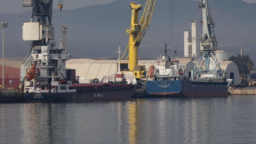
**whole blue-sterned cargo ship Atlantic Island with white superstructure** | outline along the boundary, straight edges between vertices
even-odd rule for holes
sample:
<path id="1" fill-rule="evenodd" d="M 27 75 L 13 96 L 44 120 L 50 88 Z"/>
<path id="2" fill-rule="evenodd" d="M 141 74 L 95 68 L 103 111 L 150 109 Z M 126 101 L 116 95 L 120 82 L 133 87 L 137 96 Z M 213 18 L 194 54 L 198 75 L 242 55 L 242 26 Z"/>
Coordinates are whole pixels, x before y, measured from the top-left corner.
<path id="1" fill-rule="evenodd" d="M 150 65 L 146 89 L 150 97 L 221 97 L 228 96 L 232 80 L 224 77 L 205 77 L 191 80 L 185 75 L 186 66 L 178 60 L 163 59 Z"/>

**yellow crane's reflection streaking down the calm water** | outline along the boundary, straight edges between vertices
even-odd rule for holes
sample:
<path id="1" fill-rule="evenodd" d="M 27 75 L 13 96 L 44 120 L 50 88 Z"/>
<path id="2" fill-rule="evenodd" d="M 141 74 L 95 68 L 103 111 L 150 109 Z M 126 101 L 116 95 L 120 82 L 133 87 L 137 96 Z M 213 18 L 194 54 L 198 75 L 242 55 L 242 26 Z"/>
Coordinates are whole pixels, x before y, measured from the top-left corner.
<path id="1" fill-rule="evenodd" d="M 128 106 L 128 112 L 129 112 L 129 143 L 135 144 L 138 140 L 137 138 L 137 121 L 138 121 L 138 115 L 137 115 L 137 106 L 136 102 L 130 102 Z"/>

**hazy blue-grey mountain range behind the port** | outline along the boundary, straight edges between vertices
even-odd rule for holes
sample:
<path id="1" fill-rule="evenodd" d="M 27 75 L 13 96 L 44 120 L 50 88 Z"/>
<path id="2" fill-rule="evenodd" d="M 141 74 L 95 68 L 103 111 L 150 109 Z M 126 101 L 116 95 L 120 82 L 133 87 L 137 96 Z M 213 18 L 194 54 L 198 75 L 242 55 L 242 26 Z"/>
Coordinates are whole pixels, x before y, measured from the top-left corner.
<path id="1" fill-rule="evenodd" d="M 193 19 L 200 21 L 198 1 L 175 0 L 170 10 L 169 0 L 157 1 L 151 25 L 139 47 L 139 55 L 157 58 L 164 42 L 170 42 L 170 11 L 174 20 L 174 49 L 184 54 L 184 30 L 190 29 Z M 53 10 L 55 41 L 62 39 L 61 26 L 67 26 L 67 51 L 73 57 L 116 57 L 118 43 L 122 51 L 127 46 L 130 1 L 116 0 L 110 4 L 86 6 L 73 10 Z M 211 15 L 216 23 L 215 34 L 219 46 L 230 55 L 237 55 L 240 48 L 256 62 L 255 23 L 256 3 L 241 0 L 209 0 Z M 141 11 L 141 14 L 143 11 Z M 21 14 L 2 13 L 1 22 L 8 22 L 5 29 L 5 56 L 24 57 L 29 41 L 22 40 L 22 23 L 30 20 L 31 11 Z M 200 37 L 201 25 L 198 23 Z M 198 40 L 197 40 L 198 42 Z M 58 43 L 58 42 L 57 42 Z M 1 54 L 1 53 L 0 53 Z"/>

